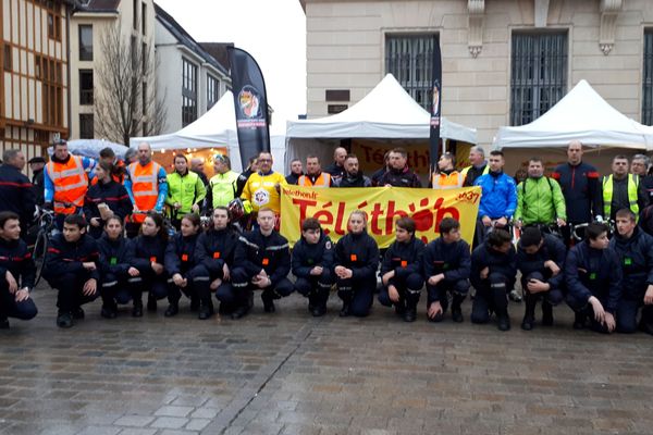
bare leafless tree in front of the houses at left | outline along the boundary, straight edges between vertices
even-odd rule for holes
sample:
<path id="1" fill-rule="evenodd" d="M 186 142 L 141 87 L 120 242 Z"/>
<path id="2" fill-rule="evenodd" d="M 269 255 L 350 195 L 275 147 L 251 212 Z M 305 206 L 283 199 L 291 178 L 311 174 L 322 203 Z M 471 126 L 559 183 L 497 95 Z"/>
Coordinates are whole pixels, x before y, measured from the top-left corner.
<path id="1" fill-rule="evenodd" d="M 103 60 L 96 69 L 95 128 L 102 137 L 128 146 L 130 138 L 160 134 L 165 126 L 165 96 L 155 97 L 153 44 L 123 38 L 120 22 L 100 39 Z"/>

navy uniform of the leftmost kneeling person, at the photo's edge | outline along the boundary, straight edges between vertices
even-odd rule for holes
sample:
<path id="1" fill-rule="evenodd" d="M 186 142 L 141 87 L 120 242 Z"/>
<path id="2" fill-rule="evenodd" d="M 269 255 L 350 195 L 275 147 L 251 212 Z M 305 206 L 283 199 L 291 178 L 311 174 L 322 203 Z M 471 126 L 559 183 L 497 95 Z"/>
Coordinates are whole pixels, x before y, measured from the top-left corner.
<path id="1" fill-rule="evenodd" d="M 7 272 L 13 275 L 19 289 L 34 287 L 36 268 L 25 241 L 0 238 L 0 326 L 8 324 L 7 318 L 29 320 L 38 312 L 32 298 L 16 302 L 15 295 L 9 291 Z"/>

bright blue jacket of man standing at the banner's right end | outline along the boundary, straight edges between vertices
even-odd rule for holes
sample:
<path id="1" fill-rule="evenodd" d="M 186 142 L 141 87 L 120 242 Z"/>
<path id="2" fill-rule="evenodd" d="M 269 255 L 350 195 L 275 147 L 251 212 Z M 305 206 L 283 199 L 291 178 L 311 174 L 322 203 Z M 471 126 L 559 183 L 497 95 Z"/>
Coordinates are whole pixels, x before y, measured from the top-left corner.
<path id="1" fill-rule="evenodd" d="M 490 172 L 478 177 L 473 185 L 482 188 L 479 219 L 513 217 L 517 209 L 517 186 L 513 177 Z"/>

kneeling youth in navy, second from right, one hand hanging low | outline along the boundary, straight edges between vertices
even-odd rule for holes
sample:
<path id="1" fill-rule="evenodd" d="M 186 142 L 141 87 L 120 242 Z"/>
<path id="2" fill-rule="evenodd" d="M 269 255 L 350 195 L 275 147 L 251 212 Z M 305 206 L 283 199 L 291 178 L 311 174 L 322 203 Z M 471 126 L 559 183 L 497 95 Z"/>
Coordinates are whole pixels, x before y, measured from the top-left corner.
<path id="1" fill-rule="evenodd" d="M 567 254 L 567 303 L 576 312 L 576 330 L 583 328 L 588 318 L 594 331 L 612 333 L 616 327 L 623 272 L 617 253 L 608 247 L 607 231 L 605 224 L 591 223 L 586 229 L 586 240 Z"/>

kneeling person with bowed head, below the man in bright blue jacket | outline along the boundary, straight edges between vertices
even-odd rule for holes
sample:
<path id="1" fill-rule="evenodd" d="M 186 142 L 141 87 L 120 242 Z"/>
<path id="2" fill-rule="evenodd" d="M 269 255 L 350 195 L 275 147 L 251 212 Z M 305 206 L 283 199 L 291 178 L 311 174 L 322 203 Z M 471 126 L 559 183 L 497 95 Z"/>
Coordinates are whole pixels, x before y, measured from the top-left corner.
<path id="1" fill-rule="evenodd" d="M 471 253 L 471 285 L 477 289 L 471 306 L 471 322 L 488 323 L 490 312 L 496 313 L 500 331 L 510 328 L 507 295 L 515 285 L 515 247 L 505 229 L 494 229 Z"/>

